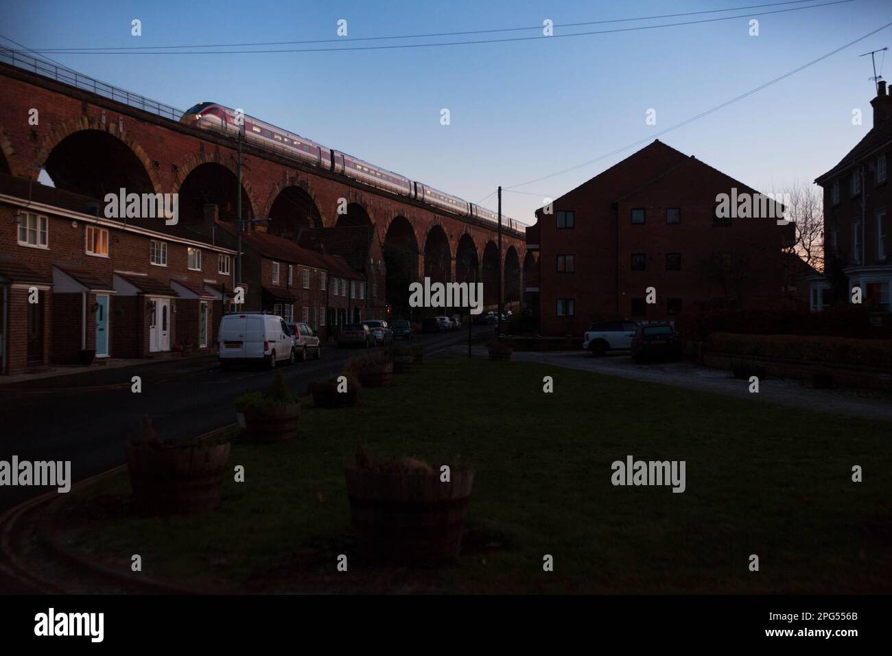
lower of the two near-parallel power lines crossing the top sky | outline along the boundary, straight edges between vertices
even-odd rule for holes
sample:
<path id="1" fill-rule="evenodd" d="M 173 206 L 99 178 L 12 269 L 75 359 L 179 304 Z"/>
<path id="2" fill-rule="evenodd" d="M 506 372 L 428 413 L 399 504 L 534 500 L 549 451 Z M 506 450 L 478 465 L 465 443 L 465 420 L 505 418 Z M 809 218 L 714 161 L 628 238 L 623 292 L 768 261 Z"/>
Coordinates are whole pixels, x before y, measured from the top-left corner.
<path id="1" fill-rule="evenodd" d="M 392 46 L 355 46 L 355 47 L 345 47 L 345 48 L 285 48 L 279 50 L 193 50 L 190 52 L 146 52 L 146 51 L 135 51 L 135 50 L 121 50 L 108 48 L 102 52 L 99 51 L 87 51 L 87 50 L 76 50 L 70 49 L 66 51 L 54 50 L 47 52 L 56 52 L 65 54 L 273 54 L 273 53 L 338 53 L 338 52 L 346 52 L 346 51 L 358 51 L 358 50 L 397 50 L 397 49 L 405 49 L 405 48 L 429 48 L 429 47 L 443 47 L 443 46 L 477 46 L 482 44 L 493 44 L 493 43 L 509 43 L 516 41 L 541 41 L 555 38 L 569 38 L 569 37 L 591 37 L 599 34 L 615 34 L 618 32 L 634 32 L 640 31 L 642 29 L 659 29 L 659 28 L 674 28 L 681 27 L 687 25 L 699 25 L 703 23 L 717 22 L 717 21 L 732 21 L 739 18 L 752 18 L 753 16 L 767 16 L 774 13 L 785 13 L 785 12 L 799 12 L 804 9 L 818 9 L 820 7 L 827 7 L 833 4 L 847 4 L 855 2 L 855 0 L 833 0 L 833 2 L 827 2 L 823 4 L 812 4 L 805 7 L 792 7 L 789 9 L 778 9 L 773 12 L 755 12 L 755 13 L 742 13 L 736 14 L 734 16 L 722 16 L 720 18 L 710 18 L 703 19 L 701 21 L 681 21 L 675 23 L 664 23 L 662 25 L 642 25 L 639 27 L 633 28 L 620 28 L 620 29 L 600 29 L 594 30 L 591 32 L 575 32 L 573 34 L 555 34 L 550 37 L 512 37 L 512 38 L 491 38 L 491 39 L 481 39 L 477 41 L 446 41 L 443 43 L 422 43 L 422 44 L 396 44 Z M 43 50 L 34 50 L 32 52 L 42 54 Z"/>

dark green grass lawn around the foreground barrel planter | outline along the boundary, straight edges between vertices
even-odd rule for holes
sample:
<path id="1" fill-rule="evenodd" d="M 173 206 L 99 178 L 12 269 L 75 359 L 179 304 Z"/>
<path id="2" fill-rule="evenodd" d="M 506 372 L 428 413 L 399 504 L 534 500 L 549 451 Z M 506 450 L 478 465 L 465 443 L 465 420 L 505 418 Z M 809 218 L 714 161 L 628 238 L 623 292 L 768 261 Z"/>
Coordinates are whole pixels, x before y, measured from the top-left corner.
<path id="1" fill-rule="evenodd" d="M 360 442 L 432 467 L 460 454 L 475 469 L 458 562 L 384 568 L 356 552 L 343 467 Z M 686 461 L 686 491 L 613 486 L 611 463 L 629 454 Z M 425 361 L 391 388 L 363 390 L 358 408 L 305 403 L 297 440 L 234 444 L 229 464 L 244 465 L 245 482 L 230 477 L 218 511 L 135 517 L 124 472 L 69 494 L 65 531 L 122 569 L 139 553 L 146 576 L 249 592 L 892 591 L 892 424 L 757 395 Z"/>

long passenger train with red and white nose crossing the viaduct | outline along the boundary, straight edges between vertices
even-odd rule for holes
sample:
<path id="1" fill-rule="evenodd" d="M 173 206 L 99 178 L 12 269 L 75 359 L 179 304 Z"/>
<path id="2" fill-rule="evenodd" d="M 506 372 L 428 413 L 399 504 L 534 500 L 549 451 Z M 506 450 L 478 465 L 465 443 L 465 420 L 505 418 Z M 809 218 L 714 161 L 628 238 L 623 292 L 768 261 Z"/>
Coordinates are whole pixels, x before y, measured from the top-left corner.
<path id="1" fill-rule="evenodd" d="M 217 103 L 199 103 L 186 110 L 181 123 L 193 128 L 209 129 L 235 135 L 240 129 L 239 120 L 244 121 L 244 137 L 262 146 L 272 145 L 276 150 L 284 150 L 301 162 L 306 162 L 320 169 L 325 169 L 359 180 L 392 194 L 406 196 L 414 200 L 433 205 L 437 209 L 446 210 L 498 228 L 499 215 L 496 212 L 468 203 L 456 195 L 447 194 L 434 187 L 416 182 L 392 170 L 363 162 L 357 157 L 317 144 L 311 139 L 301 137 L 288 130 L 277 128 L 262 120 L 235 112 Z M 502 228 L 524 233 L 525 226 L 515 219 L 502 215 Z"/>

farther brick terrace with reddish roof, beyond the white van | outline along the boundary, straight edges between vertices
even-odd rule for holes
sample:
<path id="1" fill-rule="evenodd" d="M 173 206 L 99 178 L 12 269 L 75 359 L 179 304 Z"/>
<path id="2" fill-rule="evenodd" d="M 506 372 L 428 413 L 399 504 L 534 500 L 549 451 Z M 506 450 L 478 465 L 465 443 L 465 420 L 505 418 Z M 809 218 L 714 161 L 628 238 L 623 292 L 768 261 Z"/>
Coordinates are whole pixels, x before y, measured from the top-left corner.
<path id="1" fill-rule="evenodd" d="M 219 238 L 235 246 L 231 224 L 220 222 Z M 242 234 L 244 309 L 268 311 L 289 324 L 304 321 L 326 338 L 348 317 L 367 318 L 365 277 L 335 255 L 317 253 L 255 226 Z M 230 308 L 235 306 L 230 303 Z"/>

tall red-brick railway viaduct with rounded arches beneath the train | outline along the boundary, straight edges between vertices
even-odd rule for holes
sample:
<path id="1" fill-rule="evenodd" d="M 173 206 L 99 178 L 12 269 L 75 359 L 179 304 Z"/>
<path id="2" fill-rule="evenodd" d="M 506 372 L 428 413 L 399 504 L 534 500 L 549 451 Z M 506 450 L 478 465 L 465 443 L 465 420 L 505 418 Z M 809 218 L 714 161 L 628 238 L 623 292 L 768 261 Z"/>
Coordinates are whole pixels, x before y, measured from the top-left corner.
<path id="1" fill-rule="evenodd" d="M 20 55 L 16 54 L 16 57 Z M 27 58 L 25 62 L 29 62 Z M 201 224 L 204 207 L 235 220 L 237 142 L 190 128 L 181 112 L 38 60 L 34 71 L 0 63 L 0 170 L 102 199 L 107 193 L 177 193 L 179 221 Z M 26 66 L 28 63 L 25 64 Z M 37 112 L 35 112 L 35 110 Z M 260 117 L 262 118 L 262 117 Z M 286 126 L 300 131 L 300 126 Z M 330 146 L 336 147 L 336 144 Z M 268 230 L 368 226 L 389 271 L 434 280 L 483 280 L 484 303 L 519 303 L 534 270 L 524 234 L 437 210 L 243 142 L 242 216 L 268 218 Z M 357 154 L 363 157 L 364 154 Z M 368 157 L 370 160 L 374 158 Z M 412 178 L 411 171 L 401 173 Z M 458 189 L 447 189 L 451 193 Z M 346 199 L 347 212 L 338 213 Z M 390 278 L 390 276 L 389 276 Z M 388 291 L 388 297 L 396 290 Z"/>

